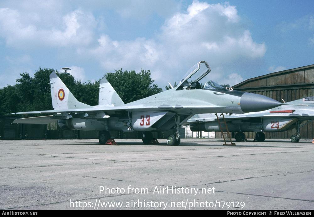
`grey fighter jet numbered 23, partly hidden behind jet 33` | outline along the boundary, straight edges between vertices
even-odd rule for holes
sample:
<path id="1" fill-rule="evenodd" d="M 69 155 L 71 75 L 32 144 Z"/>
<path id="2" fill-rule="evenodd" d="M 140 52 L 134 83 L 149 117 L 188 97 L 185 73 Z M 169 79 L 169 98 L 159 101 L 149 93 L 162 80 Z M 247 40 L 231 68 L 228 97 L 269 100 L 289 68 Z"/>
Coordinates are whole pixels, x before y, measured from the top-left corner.
<path id="1" fill-rule="evenodd" d="M 255 140 L 263 142 L 265 140 L 263 132 L 283 132 L 294 128 L 296 135 L 292 135 L 290 141 L 299 142 L 300 127 L 314 120 L 314 97 L 287 102 L 267 111 L 231 114 L 225 116 L 225 120 L 229 132 L 237 132 L 235 135 L 237 142 L 245 139 L 243 132 L 256 132 Z M 213 114 L 195 115 L 186 124 L 190 124 L 190 129 L 194 132 L 220 132 L 217 118 Z M 221 128 L 226 131 L 224 123 Z"/>

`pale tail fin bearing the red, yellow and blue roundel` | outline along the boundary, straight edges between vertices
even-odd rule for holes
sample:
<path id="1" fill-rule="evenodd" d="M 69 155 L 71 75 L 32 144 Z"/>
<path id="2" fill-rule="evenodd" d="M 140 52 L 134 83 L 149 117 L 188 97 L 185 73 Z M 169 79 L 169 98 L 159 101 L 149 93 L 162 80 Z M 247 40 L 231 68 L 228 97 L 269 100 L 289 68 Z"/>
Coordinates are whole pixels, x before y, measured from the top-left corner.
<path id="1" fill-rule="evenodd" d="M 91 108 L 79 102 L 55 72 L 50 74 L 51 99 L 54 110 Z"/>

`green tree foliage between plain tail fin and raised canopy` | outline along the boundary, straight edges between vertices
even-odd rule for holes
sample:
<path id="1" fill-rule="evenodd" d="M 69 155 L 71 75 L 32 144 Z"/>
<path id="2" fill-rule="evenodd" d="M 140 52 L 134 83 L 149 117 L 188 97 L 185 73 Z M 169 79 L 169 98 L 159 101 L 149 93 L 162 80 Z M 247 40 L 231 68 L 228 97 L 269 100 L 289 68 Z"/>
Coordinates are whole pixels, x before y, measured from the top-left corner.
<path id="1" fill-rule="evenodd" d="M 140 73 L 136 73 L 135 70 L 123 72 L 120 69 L 115 71 L 115 73 L 107 73 L 105 77 L 124 103 L 162 92 L 162 88 L 153 84 L 154 80 L 150 78 L 150 70 L 142 69 Z"/>

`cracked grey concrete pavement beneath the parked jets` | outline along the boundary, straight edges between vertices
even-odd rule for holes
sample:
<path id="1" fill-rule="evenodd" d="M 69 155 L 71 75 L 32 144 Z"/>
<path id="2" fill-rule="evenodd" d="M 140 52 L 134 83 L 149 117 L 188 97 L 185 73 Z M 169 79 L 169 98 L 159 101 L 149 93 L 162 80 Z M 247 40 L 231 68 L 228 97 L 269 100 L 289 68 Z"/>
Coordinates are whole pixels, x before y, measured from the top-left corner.
<path id="1" fill-rule="evenodd" d="M 311 210 L 311 140 L 2 140 L 0 209 Z M 106 207 L 105 207 L 106 206 Z M 110 206 L 110 207 L 109 207 Z"/>

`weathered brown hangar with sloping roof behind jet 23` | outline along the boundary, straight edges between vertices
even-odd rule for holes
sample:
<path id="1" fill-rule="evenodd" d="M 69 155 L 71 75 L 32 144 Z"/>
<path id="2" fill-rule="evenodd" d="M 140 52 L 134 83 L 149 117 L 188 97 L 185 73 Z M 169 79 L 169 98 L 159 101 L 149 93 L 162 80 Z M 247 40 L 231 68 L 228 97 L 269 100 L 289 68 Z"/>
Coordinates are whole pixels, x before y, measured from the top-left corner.
<path id="1" fill-rule="evenodd" d="M 282 102 L 290 102 L 314 96 L 314 65 L 274 72 L 251 78 L 233 86 L 234 90 L 268 96 Z M 300 128 L 301 139 L 313 139 L 313 121 Z M 266 138 L 289 139 L 296 130 L 266 133 Z M 246 132 L 246 138 L 255 138 L 255 132 Z"/>

